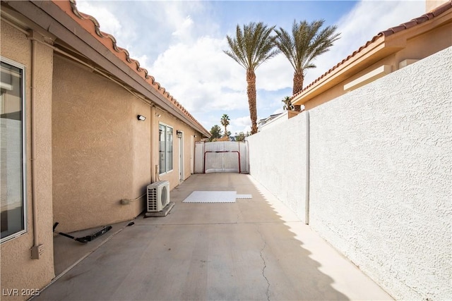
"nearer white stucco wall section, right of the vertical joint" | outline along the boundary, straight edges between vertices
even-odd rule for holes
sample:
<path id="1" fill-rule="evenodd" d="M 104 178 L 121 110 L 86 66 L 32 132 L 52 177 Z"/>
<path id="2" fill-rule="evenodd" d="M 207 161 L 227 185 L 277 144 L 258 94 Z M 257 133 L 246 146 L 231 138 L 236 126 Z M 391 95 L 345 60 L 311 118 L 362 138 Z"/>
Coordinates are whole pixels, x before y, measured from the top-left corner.
<path id="1" fill-rule="evenodd" d="M 452 300 L 451 91 L 449 48 L 310 111 L 310 224 L 396 299 Z"/>

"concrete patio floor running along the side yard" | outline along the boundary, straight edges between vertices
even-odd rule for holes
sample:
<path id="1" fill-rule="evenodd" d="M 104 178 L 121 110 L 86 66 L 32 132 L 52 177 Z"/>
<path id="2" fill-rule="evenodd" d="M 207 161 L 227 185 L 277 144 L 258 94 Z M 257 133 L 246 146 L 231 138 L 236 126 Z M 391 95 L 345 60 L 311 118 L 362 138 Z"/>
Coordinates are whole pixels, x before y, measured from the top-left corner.
<path id="1" fill-rule="evenodd" d="M 194 190 L 252 199 L 182 203 Z M 194 175 L 171 200 L 86 245 L 55 237 L 59 276 L 34 300 L 392 300 L 251 176 Z"/>

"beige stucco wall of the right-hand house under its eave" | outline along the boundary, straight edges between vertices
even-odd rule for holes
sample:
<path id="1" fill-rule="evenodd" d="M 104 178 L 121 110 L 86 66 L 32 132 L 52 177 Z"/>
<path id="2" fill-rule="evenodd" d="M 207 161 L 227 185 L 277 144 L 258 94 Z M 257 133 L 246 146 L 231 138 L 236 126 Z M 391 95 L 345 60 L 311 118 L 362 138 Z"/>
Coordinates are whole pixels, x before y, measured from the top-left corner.
<path id="1" fill-rule="evenodd" d="M 436 52 L 446 49 L 452 45 L 452 23 L 448 23 L 441 27 L 437 27 L 434 30 L 418 35 L 417 32 L 421 32 L 422 26 L 423 25 L 412 28 L 407 30 L 407 32 L 400 32 L 408 34 L 408 31 L 410 31 L 410 36 L 412 36 L 412 38 L 407 39 L 403 49 L 386 56 L 376 63 L 372 63 L 367 68 L 364 68 L 358 73 L 350 75 L 347 79 L 338 82 L 338 84 L 334 87 L 331 87 L 316 97 L 309 99 L 306 103 L 304 103 L 305 109 L 313 109 L 314 107 L 319 106 L 319 104 L 323 104 L 331 99 L 335 99 L 336 97 L 345 94 L 346 92 L 344 91 L 344 85 L 360 78 L 362 75 L 365 75 L 380 66 L 390 65 L 392 66 L 392 72 L 394 72 L 400 69 L 399 63 L 405 61 L 406 59 L 424 59 L 427 56 L 431 56 L 432 54 L 435 54 Z M 391 39 L 392 36 L 389 36 L 388 38 Z"/>

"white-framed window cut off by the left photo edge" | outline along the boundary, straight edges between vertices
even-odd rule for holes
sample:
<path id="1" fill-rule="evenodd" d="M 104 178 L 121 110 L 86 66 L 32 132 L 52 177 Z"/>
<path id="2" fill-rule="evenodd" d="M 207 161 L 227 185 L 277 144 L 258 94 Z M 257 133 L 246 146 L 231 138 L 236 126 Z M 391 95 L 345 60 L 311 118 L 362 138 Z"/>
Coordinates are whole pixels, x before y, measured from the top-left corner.
<path id="1" fill-rule="evenodd" d="M 0 58 L 0 223 L 4 242 L 26 231 L 25 66 Z"/>

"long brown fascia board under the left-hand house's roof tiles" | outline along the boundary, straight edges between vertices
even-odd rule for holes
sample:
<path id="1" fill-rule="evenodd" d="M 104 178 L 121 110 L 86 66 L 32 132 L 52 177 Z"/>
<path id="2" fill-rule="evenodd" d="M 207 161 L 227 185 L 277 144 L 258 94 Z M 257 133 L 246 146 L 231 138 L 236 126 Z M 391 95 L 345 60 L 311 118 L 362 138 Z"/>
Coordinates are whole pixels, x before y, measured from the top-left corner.
<path id="1" fill-rule="evenodd" d="M 151 85 L 134 72 L 129 66 L 126 66 L 121 59 L 112 54 L 104 45 L 90 34 L 90 32 L 81 28 L 81 26 L 71 18 L 67 13 L 61 10 L 59 6 L 52 1 L 10 1 L 8 5 L 19 11 L 23 16 L 30 19 L 40 27 L 47 30 L 52 35 L 61 39 L 66 44 L 71 45 L 73 49 L 83 54 L 109 73 L 125 82 L 137 92 L 151 99 L 155 104 L 161 106 L 172 115 L 179 118 L 194 130 L 205 134 L 205 130 L 191 121 L 181 111 L 175 109 L 165 97 L 155 90 Z"/>

